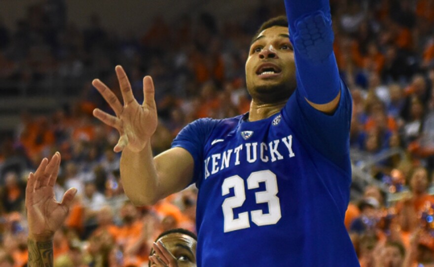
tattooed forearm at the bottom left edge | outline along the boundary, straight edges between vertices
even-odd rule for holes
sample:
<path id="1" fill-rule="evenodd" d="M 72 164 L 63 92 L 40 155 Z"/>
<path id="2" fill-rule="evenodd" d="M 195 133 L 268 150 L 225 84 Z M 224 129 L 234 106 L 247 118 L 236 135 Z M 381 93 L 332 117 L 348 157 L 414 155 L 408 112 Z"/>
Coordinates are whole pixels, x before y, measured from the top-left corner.
<path id="1" fill-rule="evenodd" d="M 53 242 L 37 242 L 33 239 L 27 240 L 29 247 L 28 267 L 52 267 L 53 266 Z"/>

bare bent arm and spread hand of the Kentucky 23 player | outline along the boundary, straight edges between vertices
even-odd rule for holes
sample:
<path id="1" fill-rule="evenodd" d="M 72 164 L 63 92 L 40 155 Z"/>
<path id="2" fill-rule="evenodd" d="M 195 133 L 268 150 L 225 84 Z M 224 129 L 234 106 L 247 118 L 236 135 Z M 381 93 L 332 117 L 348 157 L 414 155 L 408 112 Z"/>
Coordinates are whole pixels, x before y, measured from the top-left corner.
<path id="1" fill-rule="evenodd" d="M 124 104 L 103 82 L 96 79 L 92 84 L 116 116 L 100 109 L 95 109 L 93 114 L 105 124 L 116 128 L 120 134 L 114 151 L 122 151 L 120 174 L 125 194 L 135 205 L 153 204 L 189 184 L 193 175 L 193 158 L 187 150 L 179 147 L 153 158 L 150 138 L 157 127 L 157 110 L 152 78 L 144 78 L 145 100 L 139 104 L 122 67 L 116 67 L 116 75 Z"/>

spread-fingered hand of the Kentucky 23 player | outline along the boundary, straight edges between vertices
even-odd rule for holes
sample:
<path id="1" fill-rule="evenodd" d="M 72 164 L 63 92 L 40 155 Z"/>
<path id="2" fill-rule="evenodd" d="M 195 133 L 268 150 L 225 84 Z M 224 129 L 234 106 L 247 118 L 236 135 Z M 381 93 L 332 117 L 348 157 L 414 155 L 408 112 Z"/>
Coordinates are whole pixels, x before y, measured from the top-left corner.
<path id="1" fill-rule="evenodd" d="M 145 76 L 143 79 L 145 100 L 141 105 L 133 96 L 124 69 L 120 66 L 116 66 L 115 69 L 124 104 L 120 103 L 107 85 L 99 79 L 95 79 L 92 85 L 109 103 L 116 116 L 112 116 L 98 108 L 93 111 L 93 115 L 103 123 L 116 128 L 119 132 L 119 140 L 113 149 L 115 152 L 120 152 L 127 146 L 131 151 L 139 152 L 145 148 L 157 128 L 157 108 L 154 100 L 155 90 L 152 78 Z"/>

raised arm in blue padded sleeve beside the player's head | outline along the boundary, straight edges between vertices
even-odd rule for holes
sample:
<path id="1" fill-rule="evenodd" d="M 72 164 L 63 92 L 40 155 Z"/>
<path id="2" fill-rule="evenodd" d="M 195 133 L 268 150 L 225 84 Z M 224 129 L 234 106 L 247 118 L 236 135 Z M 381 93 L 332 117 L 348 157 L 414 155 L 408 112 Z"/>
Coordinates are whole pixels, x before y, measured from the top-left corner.
<path id="1" fill-rule="evenodd" d="M 314 108 L 333 112 L 339 103 L 341 85 L 333 53 L 329 2 L 285 0 L 285 6 L 298 90 Z"/>

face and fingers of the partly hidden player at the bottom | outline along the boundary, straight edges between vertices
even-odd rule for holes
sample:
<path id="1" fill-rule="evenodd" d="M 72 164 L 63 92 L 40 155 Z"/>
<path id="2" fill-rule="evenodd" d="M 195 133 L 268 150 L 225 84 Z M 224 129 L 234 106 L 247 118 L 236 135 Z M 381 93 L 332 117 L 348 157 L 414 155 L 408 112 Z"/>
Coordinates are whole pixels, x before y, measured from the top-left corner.
<path id="1" fill-rule="evenodd" d="M 152 246 L 151 267 L 196 267 L 197 241 L 187 234 L 160 237 Z"/>

